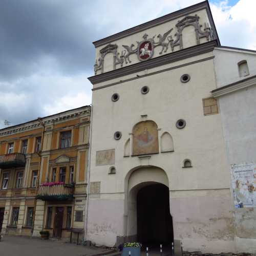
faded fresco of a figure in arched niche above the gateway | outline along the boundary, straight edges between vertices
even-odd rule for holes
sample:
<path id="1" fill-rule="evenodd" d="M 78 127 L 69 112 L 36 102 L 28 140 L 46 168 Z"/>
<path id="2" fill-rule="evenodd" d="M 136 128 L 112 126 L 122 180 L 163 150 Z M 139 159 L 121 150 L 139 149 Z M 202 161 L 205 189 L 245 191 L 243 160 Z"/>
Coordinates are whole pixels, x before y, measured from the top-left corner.
<path id="1" fill-rule="evenodd" d="M 133 155 L 159 153 L 157 124 L 152 120 L 142 121 L 133 127 Z"/>

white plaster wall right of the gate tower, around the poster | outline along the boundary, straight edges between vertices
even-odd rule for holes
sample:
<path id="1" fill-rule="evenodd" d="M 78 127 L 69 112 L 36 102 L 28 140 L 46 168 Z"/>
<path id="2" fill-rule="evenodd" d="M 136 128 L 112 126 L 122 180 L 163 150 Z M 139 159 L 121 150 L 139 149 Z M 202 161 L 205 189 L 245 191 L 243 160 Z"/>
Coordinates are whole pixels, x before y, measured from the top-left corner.
<path id="1" fill-rule="evenodd" d="M 215 50 L 218 86 L 256 75 L 256 54 Z M 240 78 L 237 62 L 247 60 L 250 75 Z M 218 98 L 229 165 L 256 163 L 256 83 Z M 230 172 L 230 167 L 228 168 Z M 234 208 L 235 241 L 238 251 L 256 252 L 256 209 Z"/>

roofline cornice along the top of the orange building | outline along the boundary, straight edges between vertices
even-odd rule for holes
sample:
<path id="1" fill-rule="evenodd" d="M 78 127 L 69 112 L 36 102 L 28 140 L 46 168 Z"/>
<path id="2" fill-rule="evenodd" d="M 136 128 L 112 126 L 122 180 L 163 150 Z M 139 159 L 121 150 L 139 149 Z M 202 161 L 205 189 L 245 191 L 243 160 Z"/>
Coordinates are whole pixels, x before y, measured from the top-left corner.
<path id="1" fill-rule="evenodd" d="M 78 108 L 78 109 L 74 109 L 74 110 L 70 110 L 70 111 L 61 112 L 61 113 L 58 113 L 55 115 L 43 117 L 43 118 L 41 118 L 41 121 L 44 125 L 47 126 L 47 125 L 51 125 L 53 123 L 63 122 L 63 121 L 67 121 L 70 119 L 74 119 L 74 118 L 80 117 L 82 115 L 86 115 L 86 114 L 90 115 L 90 113 L 91 113 L 91 107 L 83 106 L 82 108 Z M 0 130 L 0 137 L 13 135 L 13 134 L 17 134 L 17 133 L 22 133 L 25 131 L 31 131 L 34 129 L 38 129 L 40 127 L 42 127 L 40 122 L 38 121 L 38 119 L 35 119 L 35 120 L 29 121 L 26 123 L 17 124 L 17 125 Z"/>

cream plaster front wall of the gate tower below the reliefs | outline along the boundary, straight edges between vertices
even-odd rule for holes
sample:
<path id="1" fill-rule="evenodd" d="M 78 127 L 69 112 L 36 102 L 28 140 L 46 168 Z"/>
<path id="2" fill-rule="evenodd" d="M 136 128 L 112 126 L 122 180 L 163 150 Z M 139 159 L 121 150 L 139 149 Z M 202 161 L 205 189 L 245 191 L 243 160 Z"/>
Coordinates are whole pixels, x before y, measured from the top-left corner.
<path id="1" fill-rule="evenodd" d="M 89 196 L 89 240 L 113 246 L 116 236 L 129 235 L 127 176 L 136 167 L 157 166 L 168 177 L 175 238 L 184 241 L 184 249 L 196 250 L 200 244 L 200 249 L 208 252 L 233 250 L 230 181 L 221 117 L 219 114 L 203 114 L 202 99 L 209 97 L 210 91 L 216 89 L 214 62 L 209 59 L 175 69 L 178 65 L 210 56 L 212 53 L 180 60 L 147 72 L 150 74 L 170 67 L 173 70 L 93 91 L 90 181 L 100 181 L 101 188 L 98 198 Z M 182 83 L 180 77 L 186 73 L 191 79 Z M 98 83 L 94 88 L 137 77 L 137 74 Z M 143 95 L 140 90 L 145 85 L 150 87 L 150 92 Z M 111 101 L 113 93 L 120 95 L 116 102 Z M 133 126 L 145 120 L 141 115 L 147 115 L 147 120 L 157 123 L 159 140 L 164 132 L 172 135 L 174 152 L 151 155 L 150 159 L 123 157 L 124 144 L 132 138 Z M 187 123 L 181 130 L 176 127 L 180 118 Z M 118 141 L 114 139 L 116 131 L 122 132 Z M 110 165 L 95 165 L 96 151 L 111 148 L 115 148 L 116 153 L 115 175 L 108 174 Z M 183 160 L 187 158 L 192 161 L 192 168 L 182 168 Z M 147 175 L 154 181 L 154 176 Z M 172 191 L 175 191 L 175 198 L 172 198 Z M 183 191 L 187 191 L 185 198 Z M 220 195 L 220 191 L 224 196 Z M 107 230 L 105 223 L 109 225 Z M 187 225 L 190 225 L 189 231 Z M 213 241 L 220 246 L 215 247 Z"/>

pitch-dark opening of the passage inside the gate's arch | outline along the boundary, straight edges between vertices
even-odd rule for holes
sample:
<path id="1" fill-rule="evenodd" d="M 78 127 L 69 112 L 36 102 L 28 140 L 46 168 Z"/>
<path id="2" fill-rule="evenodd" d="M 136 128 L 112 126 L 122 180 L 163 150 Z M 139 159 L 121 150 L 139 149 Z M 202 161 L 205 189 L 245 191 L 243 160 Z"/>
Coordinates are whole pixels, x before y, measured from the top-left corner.
<path id="1" fill-rule="evenodd" d="M 173 218 L 169 209 L 167 186 L 152 184 L 138 191 L 138 241 L 143 244 L 170 244 L 173 242 Z"/>

